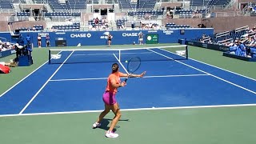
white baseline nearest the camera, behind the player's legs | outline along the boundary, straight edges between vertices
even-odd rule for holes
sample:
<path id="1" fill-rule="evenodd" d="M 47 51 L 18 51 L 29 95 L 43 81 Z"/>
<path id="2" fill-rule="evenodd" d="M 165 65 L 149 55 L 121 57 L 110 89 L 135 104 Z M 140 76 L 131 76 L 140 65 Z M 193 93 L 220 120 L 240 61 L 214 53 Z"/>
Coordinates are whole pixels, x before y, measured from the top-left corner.
<path id="1" fill-rule="evenodd" d="M 122 111 L 140 111 L 140 110 L 182 110 L 182 109 L 202 109 L 202 108 L 222 108 L 222 107 L 245 107 L 256 106 L 256 104 L 239 104 L 239 105 L 215 105 L 215 106 L 177 106 L 177 107 L 154 107 L 154 108 L 138 108 L 138 109 L 122 109 Z M 53 114 L 86 114 L 99 113 L 102 110 L 82 110 L 82 111 L 65 111 L 65 112 L 51 112 L 51 113 L 33 113 L 33 114 L 2 114 L 2 117 L 16 117 L 16 116 L 33 116 L 33 115 L 53 115 Z"/>

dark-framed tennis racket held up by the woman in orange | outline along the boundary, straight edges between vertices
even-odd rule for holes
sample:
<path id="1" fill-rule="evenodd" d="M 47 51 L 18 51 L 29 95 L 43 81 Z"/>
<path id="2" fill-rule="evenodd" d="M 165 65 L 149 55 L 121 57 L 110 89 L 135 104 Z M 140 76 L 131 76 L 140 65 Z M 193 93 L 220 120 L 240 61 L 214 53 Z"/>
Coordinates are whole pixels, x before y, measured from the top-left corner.
<path id="1" fill-rule="evenodd" d="M 131 74 L 134 74 L 134 72 L 138 70 L 139 66 L 141 66 L 141 58 L 138 58 L 138 57 L 130 58 L 127 64 L 128 76 L 125 82 L 127 82 Z"/>

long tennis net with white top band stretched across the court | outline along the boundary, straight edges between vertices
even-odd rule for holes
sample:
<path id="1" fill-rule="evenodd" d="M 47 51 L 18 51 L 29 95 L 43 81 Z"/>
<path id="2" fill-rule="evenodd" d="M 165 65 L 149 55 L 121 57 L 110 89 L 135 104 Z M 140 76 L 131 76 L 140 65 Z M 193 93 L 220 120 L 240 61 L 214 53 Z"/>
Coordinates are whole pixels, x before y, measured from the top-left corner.
<path id="1" fill-rule="evenodd" d="M 49 63 L 125 62 L 139 57 L 142 61 L 188 59 L 188 46 L 158 46 L 126 49 L 50 49 Z"/>

